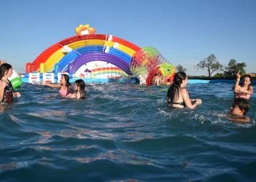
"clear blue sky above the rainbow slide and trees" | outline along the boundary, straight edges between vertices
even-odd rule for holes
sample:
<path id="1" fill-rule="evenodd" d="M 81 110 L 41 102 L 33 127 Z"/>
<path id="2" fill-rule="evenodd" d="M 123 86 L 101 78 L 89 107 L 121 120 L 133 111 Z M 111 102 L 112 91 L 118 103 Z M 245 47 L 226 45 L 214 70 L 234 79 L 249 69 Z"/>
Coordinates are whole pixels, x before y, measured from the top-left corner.
<path id="1" fill-rule="evenodd" d="M 45 49 L 90 24 L 96 33 L 155 47 L 189 75 L 207 75 L 194 66 L 211 54 L 256 72 L 255 9 L 254 0 L 1 0 L 0 59 L 23 73 Z"/>

